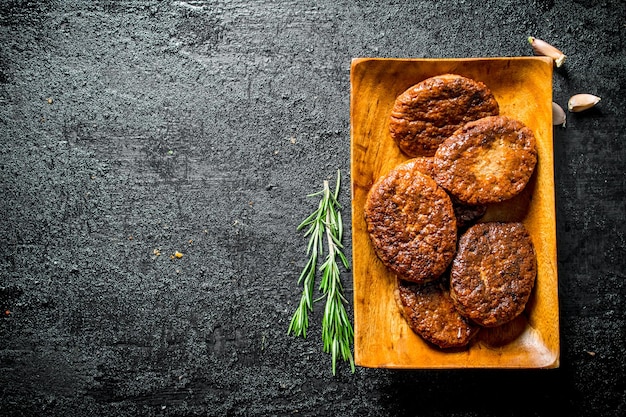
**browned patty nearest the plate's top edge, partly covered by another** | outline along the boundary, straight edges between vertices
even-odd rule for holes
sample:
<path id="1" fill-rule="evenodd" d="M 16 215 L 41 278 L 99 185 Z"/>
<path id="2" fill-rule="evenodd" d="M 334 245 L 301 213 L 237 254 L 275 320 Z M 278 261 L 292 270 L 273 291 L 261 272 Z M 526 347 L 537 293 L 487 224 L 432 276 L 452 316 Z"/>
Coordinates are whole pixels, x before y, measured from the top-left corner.
<path id="1" fill-rule="evenodd" d="M 415 84 L 396 98 L 389 132 L 408 156 L 433 156 L 465 123 L 497 114 L 498 102 L 485 84 L 443 74 Z"/>

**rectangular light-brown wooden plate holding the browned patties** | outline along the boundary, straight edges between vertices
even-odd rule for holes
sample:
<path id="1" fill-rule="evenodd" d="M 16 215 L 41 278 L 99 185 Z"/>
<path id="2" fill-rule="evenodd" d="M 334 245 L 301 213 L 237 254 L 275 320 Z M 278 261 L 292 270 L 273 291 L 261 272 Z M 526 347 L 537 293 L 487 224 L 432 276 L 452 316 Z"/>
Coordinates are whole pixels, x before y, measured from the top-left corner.
<path id="1" fill-rule="evenodd" d="M 559 306 L 552 157 L 552 60 L 546 57 L 477 59 L 354 59 L 351 66 L 351 176 L 354 277 L 354 354 L 373 368 L 556 368 Z M 484 82 L 500 105 L 533 130 L 539 161 L 520 196 L 489 207 L 482 221 L 522 221 L 537 253 L 538 274 L 522 316 L 481 329 L 465 349 L 428 345 L 401 317 L 395 277 L 376 257 L 363 216 L 374 181 L 408 159 L 389 134 L 396 97 L 419 81 L 444 73 Z"/>

